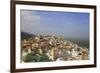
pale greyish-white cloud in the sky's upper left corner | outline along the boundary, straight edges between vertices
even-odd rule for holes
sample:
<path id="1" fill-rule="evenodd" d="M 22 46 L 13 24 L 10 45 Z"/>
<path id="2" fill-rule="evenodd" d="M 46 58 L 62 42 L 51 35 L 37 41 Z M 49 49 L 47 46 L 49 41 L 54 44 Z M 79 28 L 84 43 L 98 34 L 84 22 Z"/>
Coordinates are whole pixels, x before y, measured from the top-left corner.
<path id="1" fill-rule="evenodd" d="M 40 20 L 37 12 L 21 10 L 21 31 L 32 32 L 33 27 L 40 24 Z"/>

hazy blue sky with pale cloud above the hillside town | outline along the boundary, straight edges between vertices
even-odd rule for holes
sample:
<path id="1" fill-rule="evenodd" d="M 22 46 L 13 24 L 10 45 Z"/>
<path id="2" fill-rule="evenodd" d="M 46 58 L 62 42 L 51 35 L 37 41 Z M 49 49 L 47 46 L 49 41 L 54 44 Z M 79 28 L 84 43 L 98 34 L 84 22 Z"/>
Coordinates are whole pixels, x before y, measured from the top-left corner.
<path id="1" fill-rule="evenodd" d="M 66 38 L 88 38 L 89 13 L 21 10 L 21 31 Z"/>

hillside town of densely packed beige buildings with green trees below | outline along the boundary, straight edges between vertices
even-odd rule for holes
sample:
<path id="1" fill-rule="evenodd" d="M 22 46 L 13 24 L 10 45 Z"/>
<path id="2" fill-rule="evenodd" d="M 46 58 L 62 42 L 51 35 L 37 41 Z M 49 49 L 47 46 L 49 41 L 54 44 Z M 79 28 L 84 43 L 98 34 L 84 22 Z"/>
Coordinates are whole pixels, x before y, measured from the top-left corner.
<path id="1" fill-rule="evenodd" d="M 64 38 L 35 35 L 21 41 L 21 62 L 89 60 L 89 50 Z"/>

